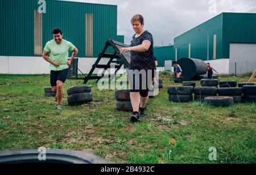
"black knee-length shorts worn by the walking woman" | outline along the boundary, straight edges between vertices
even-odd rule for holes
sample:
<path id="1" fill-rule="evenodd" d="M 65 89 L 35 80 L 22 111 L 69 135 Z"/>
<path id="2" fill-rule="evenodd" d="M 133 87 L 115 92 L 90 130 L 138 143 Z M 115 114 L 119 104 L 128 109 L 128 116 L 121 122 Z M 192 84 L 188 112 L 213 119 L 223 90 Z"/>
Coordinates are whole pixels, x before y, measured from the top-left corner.
<path id="1" fill-rule="evenodd" d="M 138 70 L 129 67 L 130 92 L 139 92 L 142 97 L 148 95 L 148 86 L 151 85 L 155 77 L 155 70 Z"/>

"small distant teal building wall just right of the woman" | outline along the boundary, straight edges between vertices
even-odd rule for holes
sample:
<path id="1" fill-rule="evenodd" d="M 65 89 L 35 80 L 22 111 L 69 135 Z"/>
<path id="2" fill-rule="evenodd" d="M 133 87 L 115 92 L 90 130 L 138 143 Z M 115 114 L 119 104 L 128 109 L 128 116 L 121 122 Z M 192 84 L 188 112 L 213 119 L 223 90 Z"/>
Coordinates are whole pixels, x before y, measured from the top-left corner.
<path id="1" fill-rule="evenodd" d="M 174 46 L 163 46 L 154 48 L 154 56 L 158 60 L 158 67 L 164 67 L 164 60 L 175 60 Z"/>

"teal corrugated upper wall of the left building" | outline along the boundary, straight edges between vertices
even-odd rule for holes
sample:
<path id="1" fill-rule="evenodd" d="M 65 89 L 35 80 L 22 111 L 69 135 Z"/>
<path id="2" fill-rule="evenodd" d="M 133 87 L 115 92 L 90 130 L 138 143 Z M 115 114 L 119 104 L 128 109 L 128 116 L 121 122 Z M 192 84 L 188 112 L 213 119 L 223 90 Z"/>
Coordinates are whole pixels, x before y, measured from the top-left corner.
<path id="1" fill-rule="evenodd" d="M 34 56 L 34 10 L 38 0 L 0 1 L 0 56 Z M 64 39 L 85 57 L 85 14 L 93 14 L 93 56 L 97 57 L 108 39 L 123 42 L 117 36 L 117 6 L 46 0 L 43 14 L 43 47 L 52 40 L 52 28 L 63 30 Z"/>

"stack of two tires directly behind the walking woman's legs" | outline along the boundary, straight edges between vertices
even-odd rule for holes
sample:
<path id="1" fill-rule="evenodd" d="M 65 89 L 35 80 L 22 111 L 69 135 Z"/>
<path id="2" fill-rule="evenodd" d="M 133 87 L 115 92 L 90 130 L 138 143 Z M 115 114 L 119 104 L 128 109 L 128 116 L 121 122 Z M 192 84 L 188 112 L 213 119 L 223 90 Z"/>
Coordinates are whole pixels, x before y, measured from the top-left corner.
<path id="1" fill-rule="evenodd" d="M 125 112 L 133 111 L 129 89 L 117 89 L 115 91 L 115 99 L 117 100 L 117 110 Z"/>

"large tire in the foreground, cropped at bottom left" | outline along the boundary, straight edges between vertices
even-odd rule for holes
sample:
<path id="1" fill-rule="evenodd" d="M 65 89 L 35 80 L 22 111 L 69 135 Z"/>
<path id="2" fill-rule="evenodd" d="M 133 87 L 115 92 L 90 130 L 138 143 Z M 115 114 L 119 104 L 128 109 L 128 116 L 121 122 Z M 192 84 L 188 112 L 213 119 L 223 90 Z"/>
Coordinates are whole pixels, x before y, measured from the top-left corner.
<path id="1" fill-rule="evenodd" d="M 108 164 L 109 162 L 82 151 L 46 149 L 46 160 L 40 161 L 40 150 L 11 150 L 0 152 L 0 164 Z"/>

